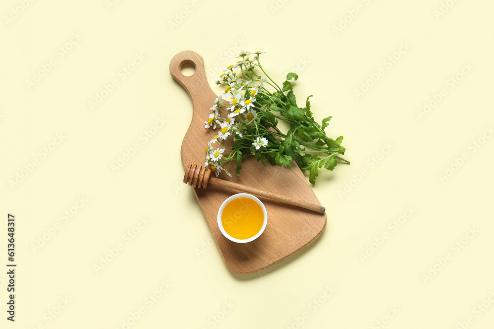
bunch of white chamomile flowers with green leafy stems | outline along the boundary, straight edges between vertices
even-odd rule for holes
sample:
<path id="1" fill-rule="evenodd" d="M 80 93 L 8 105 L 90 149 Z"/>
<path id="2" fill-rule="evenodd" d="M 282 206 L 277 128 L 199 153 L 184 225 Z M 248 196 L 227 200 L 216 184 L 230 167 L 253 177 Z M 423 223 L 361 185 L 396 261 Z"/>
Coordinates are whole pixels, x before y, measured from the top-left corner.
<path id="1" fill-rule="evenodd" d="M 309 181 L 315 184 L 320 168 L 333 170 L 339 161 L 350 163 L 340 157 L 345 153 L 343 137 L 326 136 L 331 116 L 321 124 L 314 120 L 312 95 L 305 107 L 297 106 L 291 82 L 297 74 L 288 73 L 281 86 L 269 77 L 259 62 L 262 53 L 240 53 L 240 60 L 216 79 L 223 91 L 214 100 L 205 128 L 218 133 L 207 143 L 205 166 L 216 176 L 221 172 L 231 176 L 230 165 L 236 160 L 240 176 L 245 156 L 254 156 L 264 166 L 267 161 L 287 168 L 294 160 L 301 170 L 309 171 Z M 277 127 L 279 120 L 288 123 L 288 132 Z M 233 143 L 225 143 L 227 139 Z"/>

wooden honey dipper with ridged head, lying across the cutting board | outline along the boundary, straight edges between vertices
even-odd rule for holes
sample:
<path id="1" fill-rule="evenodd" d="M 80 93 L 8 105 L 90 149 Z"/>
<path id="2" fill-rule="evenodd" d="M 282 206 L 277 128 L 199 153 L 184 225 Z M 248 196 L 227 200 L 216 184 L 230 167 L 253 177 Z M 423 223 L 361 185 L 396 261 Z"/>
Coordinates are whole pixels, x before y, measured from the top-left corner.
<path id="1" fill-rule="evenodd" d="M 218 186 L 236 189 L 242 192 L 247 192 L 250 194 L 254 194 L 256 196 L 264 197 L 266 199 L 288 203 L 290 205 L 312 210 L 321 214 L 323 214 L 326 211 L 326 208 L 324 208 L 323 206 L 315 205 L 313 203 L 293 200 L 285 196 L 261 191 L 246 185 L 232 183 L 232 182 L 220 180 L 215 177 L 211 177 L 211 170 L 206 169 L 205 167 L 200 165 L 190 164 L 187 167 L 187 169 L 185 170 L 184 183 L 188 183 L 189 185 L 198 188 L 206 188 L 207 184 L 210 183 Z"/>

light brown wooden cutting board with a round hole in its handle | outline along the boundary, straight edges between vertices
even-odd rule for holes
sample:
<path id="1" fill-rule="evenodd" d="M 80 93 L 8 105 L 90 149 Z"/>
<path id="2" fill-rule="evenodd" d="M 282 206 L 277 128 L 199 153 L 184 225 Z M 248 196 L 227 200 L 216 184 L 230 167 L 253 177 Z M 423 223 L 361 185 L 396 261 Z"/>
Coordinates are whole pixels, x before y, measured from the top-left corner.
<path id="1" fill-rule="evenodd" d="M 192 64 L 196 71 L 191 76 L 181 73 L 184 64 Z M 185 88 L 192 99 L 192 120 L 181 148 L 182 164 L 204 165 L 206 146 L 217 129 L 205 129 L 204 121 L 211 113 L 216 94 L 206 79 L 203 58 L 193 51 L 182 51 L 170 62 L 170 73 Z M 293 162 L 290 169 L 267 164 L 264 167 L 253 156 L 242 160 L 240 177 L 224 173 L 220 178 L 293 199 L 321 204 L 302 171 Z M 232 165 L 230 168 L 235 168 Z M 191 187 L 193 188 L 193 187 Z M 235 243 L 225 238 L 217 223 L 218 209 L 235 190 L 221 189 L 209 184 L 207 189 L 193 188 L 197 201 L 226 266 L 239 274 L 253 273 L 293 255 L 314 241 L 326 226 L 326 214 L 318 214 L 284 203 L 261 199 L 266 206 L 268 223 L 264 233 L 249 243 Z"/>

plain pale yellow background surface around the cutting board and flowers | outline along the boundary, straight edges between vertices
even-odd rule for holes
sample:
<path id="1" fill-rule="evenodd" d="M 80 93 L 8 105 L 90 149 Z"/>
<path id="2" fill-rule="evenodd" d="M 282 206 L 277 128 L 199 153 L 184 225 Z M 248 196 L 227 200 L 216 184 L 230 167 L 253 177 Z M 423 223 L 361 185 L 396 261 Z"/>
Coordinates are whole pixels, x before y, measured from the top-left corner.
<path id="1" fill-rule="evenodd" d="M 5 0 L 0 14 L 1 328 L 492 328 L 492 1 Z M 215 91 L 240 51 L 266 51 L 345 137 L 352 164 L 314 187 L 326 230 L 269 270 L 229 272 L 181 183 L 191 102 L 168 65 L 182 50 Z"/>

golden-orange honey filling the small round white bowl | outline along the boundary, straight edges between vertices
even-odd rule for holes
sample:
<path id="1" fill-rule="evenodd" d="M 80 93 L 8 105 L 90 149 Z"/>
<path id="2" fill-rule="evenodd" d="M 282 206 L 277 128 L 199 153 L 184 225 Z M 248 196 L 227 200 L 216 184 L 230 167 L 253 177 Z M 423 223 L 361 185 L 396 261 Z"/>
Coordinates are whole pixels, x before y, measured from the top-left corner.
<path id="1" fill-rule="evenodd" d="M 256 235 L 264 223 L 261 206 L 250 198 L 231 200 L 223 209 L 221 223 L 232 238 L 244 240 Z"/>

